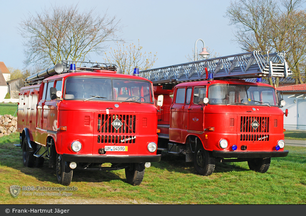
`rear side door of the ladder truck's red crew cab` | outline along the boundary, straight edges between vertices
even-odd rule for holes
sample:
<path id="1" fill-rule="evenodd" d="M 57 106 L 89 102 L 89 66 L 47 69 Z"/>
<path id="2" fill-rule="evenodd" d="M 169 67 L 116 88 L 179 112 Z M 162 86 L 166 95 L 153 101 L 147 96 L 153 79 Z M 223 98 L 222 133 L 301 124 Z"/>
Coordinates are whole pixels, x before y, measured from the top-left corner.
<path id="1" fill-rule="evenodd" d="M 174 103 L 170 108 L 169 140 L 172 142 L 182 143 L 183 109 L 185 106 L 185 93 L 186 93 L 185 87 L 175 89 Z"/>

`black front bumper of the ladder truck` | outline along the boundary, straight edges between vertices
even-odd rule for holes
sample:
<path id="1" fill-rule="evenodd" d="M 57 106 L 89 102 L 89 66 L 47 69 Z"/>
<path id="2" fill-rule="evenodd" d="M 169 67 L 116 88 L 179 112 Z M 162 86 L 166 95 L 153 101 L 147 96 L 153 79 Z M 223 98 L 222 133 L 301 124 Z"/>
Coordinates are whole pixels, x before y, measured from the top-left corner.
<path id="1" fill-rule="evenodd" d="M 275 158 L 286 157 L 289 151 L 258 151 L 258 152 L 236 152 L 236 151 L 217 151 L 213 150 L 212 154 L 217 158 Z"/>

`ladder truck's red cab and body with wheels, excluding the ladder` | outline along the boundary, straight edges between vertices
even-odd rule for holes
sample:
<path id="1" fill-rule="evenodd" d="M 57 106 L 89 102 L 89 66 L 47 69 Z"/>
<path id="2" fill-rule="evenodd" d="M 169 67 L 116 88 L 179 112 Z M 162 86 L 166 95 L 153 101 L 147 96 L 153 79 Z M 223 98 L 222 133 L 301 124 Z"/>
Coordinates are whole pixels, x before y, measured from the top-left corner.
<path id="1" fill-rule="evenodd" d="M 288 155 L 284 113 L 270 85 L 222 79 L 185 82 L 172 90 L 154 86 L 154 91 L 155 98 L 173 96 L 171 104 L 158 107 L 169 119 L 159 118 L 157 149 L 185 154 L 202 175 L 210 175 L 216 162 L 240 161 L 264 173 L 271 157 Z"/>

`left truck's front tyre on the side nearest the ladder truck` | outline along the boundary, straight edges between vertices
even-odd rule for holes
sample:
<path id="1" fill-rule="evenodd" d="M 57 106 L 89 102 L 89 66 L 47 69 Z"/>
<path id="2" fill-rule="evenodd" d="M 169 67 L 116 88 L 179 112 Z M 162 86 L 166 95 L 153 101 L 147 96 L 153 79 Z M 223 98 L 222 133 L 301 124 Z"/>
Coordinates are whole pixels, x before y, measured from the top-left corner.
<path id="1" fill-rule="evenodd" d="M 144 163 L 132 163 L 130 167 L 125 168 L 126 181 L 132 185 L 139 185 L 144 177 Z"/>

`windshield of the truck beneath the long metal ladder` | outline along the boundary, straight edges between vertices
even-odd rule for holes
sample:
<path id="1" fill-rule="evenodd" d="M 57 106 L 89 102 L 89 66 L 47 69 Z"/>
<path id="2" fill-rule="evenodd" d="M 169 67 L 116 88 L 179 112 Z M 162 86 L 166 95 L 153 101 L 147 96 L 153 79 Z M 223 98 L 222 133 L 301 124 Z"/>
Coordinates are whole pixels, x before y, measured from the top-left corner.
<path id="1" fill-rule="evenodd" d="M 275 90 L 247 85 L 212 85 L 208 90 L 209 104 L 277 106 Z"/>

